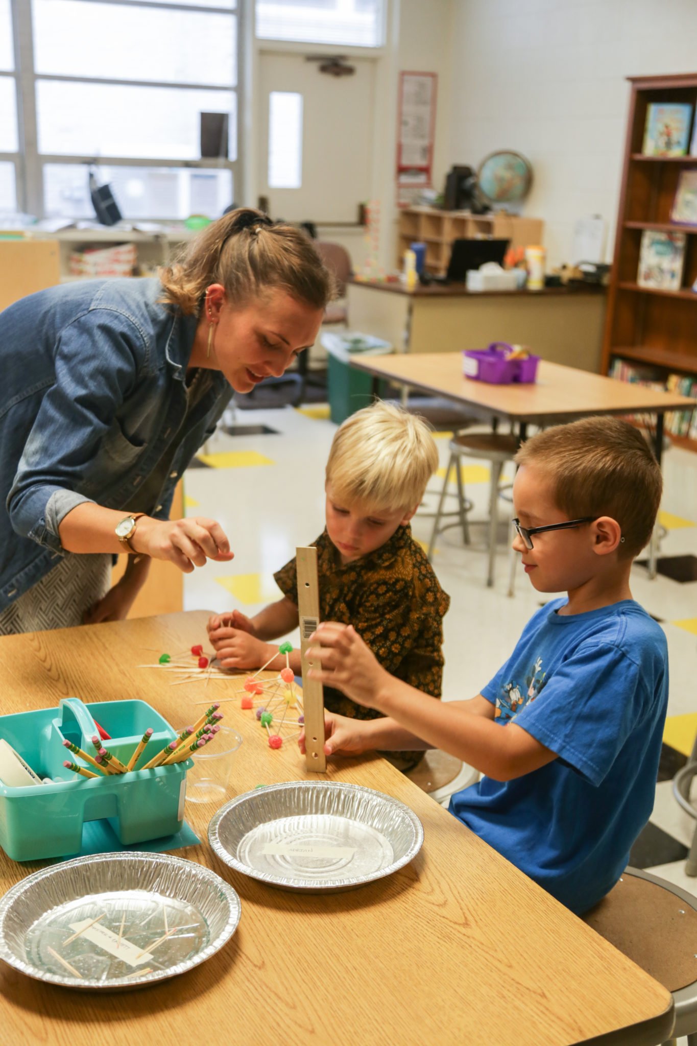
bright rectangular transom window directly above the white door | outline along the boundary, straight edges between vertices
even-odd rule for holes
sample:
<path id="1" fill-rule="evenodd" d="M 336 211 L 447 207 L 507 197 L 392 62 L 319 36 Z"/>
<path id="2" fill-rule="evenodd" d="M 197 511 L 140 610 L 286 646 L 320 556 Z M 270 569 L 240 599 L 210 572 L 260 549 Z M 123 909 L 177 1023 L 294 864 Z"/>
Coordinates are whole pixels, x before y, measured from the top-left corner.
<path id="1" fill-rule="evenodd" d="M 261 40 L 380 47 L 384 18 L 385 0 L 256 0 Z"/>

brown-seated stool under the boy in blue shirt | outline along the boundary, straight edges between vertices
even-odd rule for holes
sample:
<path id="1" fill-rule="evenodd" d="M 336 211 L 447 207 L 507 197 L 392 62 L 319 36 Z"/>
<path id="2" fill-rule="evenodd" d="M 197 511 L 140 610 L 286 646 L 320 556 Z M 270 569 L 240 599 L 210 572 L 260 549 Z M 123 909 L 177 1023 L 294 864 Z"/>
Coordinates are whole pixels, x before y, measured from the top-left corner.
<path id="1" fill-rule="evenodd" d="M 583 922 L 672 993 L 674 1038 L 664 1046 L 682 1036 L 697 1046 L 697 897 L 651 872 L 626 868 Z"/>

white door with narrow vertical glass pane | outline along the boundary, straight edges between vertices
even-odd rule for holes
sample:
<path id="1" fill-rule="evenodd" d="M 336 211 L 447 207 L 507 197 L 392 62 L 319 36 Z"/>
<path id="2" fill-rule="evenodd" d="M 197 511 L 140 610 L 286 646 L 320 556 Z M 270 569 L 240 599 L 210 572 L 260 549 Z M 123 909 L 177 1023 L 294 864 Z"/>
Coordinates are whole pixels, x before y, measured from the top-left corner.
<path id="1" fill-rule="evenodd" d="M 321 73 L 304 54 L 259 56 L 259 186 L 272 218 L 356 222 L 370 199 L 375 66 Z M 271 130 L 271 140 L 270 140 Z"/>

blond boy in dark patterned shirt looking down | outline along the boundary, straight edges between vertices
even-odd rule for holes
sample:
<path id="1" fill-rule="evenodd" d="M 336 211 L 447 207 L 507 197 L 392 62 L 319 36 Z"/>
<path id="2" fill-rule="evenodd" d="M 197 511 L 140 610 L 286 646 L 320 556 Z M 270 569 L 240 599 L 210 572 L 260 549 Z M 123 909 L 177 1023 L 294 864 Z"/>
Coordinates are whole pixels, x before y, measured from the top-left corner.
<path id="1" fill-rule="evenodd" d="M 426 424 L 385 403 L 351 415 L 334 435 L 326 467 L 326 529 L 318 548 L 320 616 L 353 626 L 386 672 L 431 697 L 441 692 L 442 618 L 449 606 L 410 520 L 438 468 Z M 295 559 L 276 574 L 283 598 L 252 618 L 214 615 L 210 640 L 225 667 L 256 668 L 298 627 Z M 300 651 L 289 655 L 300 674 Z M 279 655 L 271 667 L 282 667 Z M 329 684 L 325 706 L 346 717 L 380 713 Z M 422 753 L 402 753 L 402 768 Z M 396 760 L 399 763 L 399 760 Z"/>

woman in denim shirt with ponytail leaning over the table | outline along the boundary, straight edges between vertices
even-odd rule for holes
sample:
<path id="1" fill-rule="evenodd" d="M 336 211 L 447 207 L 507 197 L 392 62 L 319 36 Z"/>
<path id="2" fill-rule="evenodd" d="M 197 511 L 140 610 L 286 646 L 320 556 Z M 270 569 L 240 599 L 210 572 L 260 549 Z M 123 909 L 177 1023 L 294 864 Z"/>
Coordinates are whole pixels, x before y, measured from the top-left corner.
<path id="1" fill-rule="evenodd" d="M 168 520 L 175 486 L 230 386 L 282 374 L 331 293 L 302 232 L 238 209 L 159 279 L 49 288 L 0 314 L 0 635 L 125 617 L 153 556 L 187 573 L 233 558 L 214 520 Z"/>

